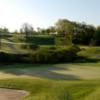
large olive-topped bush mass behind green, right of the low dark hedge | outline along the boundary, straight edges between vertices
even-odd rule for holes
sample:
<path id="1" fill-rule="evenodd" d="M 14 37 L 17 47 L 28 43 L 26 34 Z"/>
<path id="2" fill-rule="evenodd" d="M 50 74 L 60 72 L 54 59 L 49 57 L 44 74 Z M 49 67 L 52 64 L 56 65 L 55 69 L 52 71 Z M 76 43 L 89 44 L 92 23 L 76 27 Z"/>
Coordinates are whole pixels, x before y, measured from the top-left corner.
<path id="1" fill-rule="evenodd" d="M 74 51 L 73 51 L 74 50 Z M 42 48 L 31 54 L 34 63 L 72 62 L 77 58 L 78 47 Z"/>

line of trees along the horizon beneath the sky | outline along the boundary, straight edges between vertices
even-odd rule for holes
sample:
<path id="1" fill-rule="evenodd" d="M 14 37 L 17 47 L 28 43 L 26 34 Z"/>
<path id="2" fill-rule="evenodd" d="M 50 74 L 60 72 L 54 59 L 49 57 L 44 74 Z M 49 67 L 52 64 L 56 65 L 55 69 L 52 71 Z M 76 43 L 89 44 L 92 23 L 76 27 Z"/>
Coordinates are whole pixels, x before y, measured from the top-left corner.
<path id="1" fill-rule="evenodd" d="M 11 33 L 7 28 L 0 28 L 0 32 Z M 32 35 L 55 35 L 64 37 L 67 42 L 81 45 L 100 45 L 100 26 L 95 27 L 84 22 L 74 22 L 67 19 L 59 19 L 54 26 L 46 29 L 37 28 L 24 23 L 19 31 L 12 34 L 24 34 L 26 40 Z"/>

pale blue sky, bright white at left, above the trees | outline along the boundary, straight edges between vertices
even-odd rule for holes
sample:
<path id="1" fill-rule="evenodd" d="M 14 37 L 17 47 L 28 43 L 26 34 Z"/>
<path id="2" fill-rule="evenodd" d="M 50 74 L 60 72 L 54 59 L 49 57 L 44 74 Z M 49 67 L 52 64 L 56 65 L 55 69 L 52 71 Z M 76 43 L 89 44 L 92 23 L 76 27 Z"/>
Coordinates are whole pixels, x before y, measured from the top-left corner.
<path id="1" fill-rule="evenodd" d="M 0 0 L 0 27 L 10 31 L 23 23 L 47 28 L 58 19 L 100 25 L 100 0 Z"/>

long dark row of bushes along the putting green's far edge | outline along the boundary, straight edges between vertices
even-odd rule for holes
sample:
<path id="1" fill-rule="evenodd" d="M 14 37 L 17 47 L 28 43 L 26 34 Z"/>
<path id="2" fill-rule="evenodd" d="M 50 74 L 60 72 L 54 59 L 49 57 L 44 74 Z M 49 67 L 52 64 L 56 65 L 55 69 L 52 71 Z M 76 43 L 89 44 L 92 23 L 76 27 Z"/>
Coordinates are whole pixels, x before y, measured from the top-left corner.
<path id="1" fill-rule="evenodd" d="M 0 62 L 12 62 L 12 63 L 62 63 L 73 62 L 76 60 L 77 52 L 79 48 L 77 46 L 71 46 L 70 48 L 50 47 L 39 48 L 30 52 L 30 54 L 8 54 L 0 53 Z"/>

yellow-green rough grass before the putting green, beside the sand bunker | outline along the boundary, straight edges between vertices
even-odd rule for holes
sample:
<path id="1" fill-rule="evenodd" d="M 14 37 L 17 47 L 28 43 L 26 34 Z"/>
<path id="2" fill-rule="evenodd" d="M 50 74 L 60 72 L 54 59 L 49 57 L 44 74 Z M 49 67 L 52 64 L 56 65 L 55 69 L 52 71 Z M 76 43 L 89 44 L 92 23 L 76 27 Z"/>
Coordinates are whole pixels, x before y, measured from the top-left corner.
<path id="1" fill-rule="evenodd" d="M 97 99 L 100 98 L 99 83 L 100 81 L 18 78 L 0 80 L 0 87 L 28 91 L 30 95 L 23 98 L 24 100 L 100 100 Z"/>

